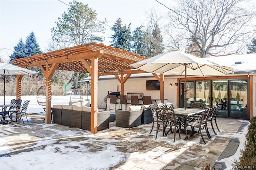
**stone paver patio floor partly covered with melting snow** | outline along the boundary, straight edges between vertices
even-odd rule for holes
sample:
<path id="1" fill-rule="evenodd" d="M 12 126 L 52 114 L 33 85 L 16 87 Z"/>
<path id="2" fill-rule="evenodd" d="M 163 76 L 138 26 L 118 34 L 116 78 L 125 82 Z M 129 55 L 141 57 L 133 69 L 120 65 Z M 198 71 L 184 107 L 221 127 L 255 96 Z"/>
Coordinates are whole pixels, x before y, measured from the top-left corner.
<path id="1" fill-rule="evenodd" d="M 108 168 L 110 170 L 201 170 L 202 166 L 205 167 L 206 164 L 210 164 L 212 169 L 229 170 L 231 168 L 226 167 L 224 158 L 229 158 L 236 153 L 238 146 L 242 144 L 240 143 L 241 135 L 245 138 L 245 135 L 241 133 L 244 127 L 250 123 L 247 120 L 217 118 L 220 132 L 214 125 L 217 132 L 215 135 L 209 125 L 208 128 L 212 136 L 212 139 L 209 140 L 205 130 L 202 130 L 206 140 L 206 144 L 204 144 L 200 134 L 189 136 L 188 140 L 184 140 L 184 134 L 181 135 L 181 139 L 176 134 L 176 140 L 173 143 L 173 134 L 169 133 L 167 136 L 163 136 L 159 131 L 155 140 L 156 128 L 149 134 L 152 123 L 128 129 L 116 127 L 115 122 L 110 122 L 109 129 L 91 134 L 88 130 L 58 124 L 44 124 L 43 113 L 29 114 L 28 118 L 29 122 L 25 124 L 18 120 L 12 124 L 0 125 L 0 145 L 3 147 L 0 150 L 1 170 L 4 169 L 3 166 L 1 167 L 1 157 L 12 157 L 22 152 L 44 150 L 47 141 L 52 139 L 57 141 L 56 148 L 58 143 L 63 141 L 69 142 L 66 144 L 67 147 L 72 147 L 71 143 L 75 141 L 85 142 L 84 146 L 88 148 L 87 152 L 92 153 L 106 149 L 103 146 L 110 144 L 106 139 L 114 139 L 111 144 L 116 147 L 116 151 L 128 156 L 116 164 L 110 164 Z M 74 135 L 67 136 L 65 133 L 67 131 L 68 134 Z M 27 137 L 22 134 L 26 134 Z M 51 139 L 48 136 L 51 136 Z M 92 138 L 96 139 L 94 144 L 86 142 Z M 42 144 L 40 145 L 40 143 Z M 52 150 L 52 152 L 56 151 Z M 65 154 L 64 150 L 58 150 L 58 152 Z M 136 156 L 132 156 L 132 153 L 136 153 Z M 24 164 L 26 163 L 28 162 L 24 162 Z M 22 168 L 20 169 L 22 170 Z M 52 169 L 55 169 L 54 166 Z"/>

